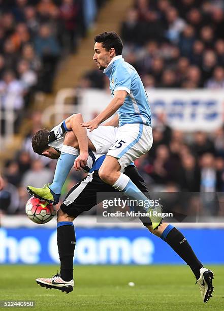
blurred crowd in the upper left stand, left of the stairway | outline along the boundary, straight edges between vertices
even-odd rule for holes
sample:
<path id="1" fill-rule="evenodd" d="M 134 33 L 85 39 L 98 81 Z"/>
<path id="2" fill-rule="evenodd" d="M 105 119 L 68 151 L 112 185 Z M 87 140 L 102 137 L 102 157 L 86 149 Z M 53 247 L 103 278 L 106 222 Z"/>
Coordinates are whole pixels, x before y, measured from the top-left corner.
<path id="1" fill-rule="evenodd" d="M 52 91 L 59 60 L 76 52 L 105 1 L 0 0 L 0 109 L 15 111 L 15 132 L 35 92 Z"/>

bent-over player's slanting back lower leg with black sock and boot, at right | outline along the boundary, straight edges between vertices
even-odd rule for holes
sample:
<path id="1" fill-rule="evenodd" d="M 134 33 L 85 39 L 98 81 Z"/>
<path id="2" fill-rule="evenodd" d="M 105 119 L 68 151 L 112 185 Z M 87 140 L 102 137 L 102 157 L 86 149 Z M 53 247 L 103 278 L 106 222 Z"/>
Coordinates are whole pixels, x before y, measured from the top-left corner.
<path id="1" fill-rule="evenodd" d="M 197 284 L 201 292 L 203 302 L 207 302 L 212 297 L 214 274 L 211 270 L 203 267 L 198 260 L 185 236 L 175 227 L 167 223 L 161 224 L 157 230 L 152 226 L 146 226 L 148 230 L 167 242 L 173 250 L 186 262 L 192 272 L 195 274 Z"/>

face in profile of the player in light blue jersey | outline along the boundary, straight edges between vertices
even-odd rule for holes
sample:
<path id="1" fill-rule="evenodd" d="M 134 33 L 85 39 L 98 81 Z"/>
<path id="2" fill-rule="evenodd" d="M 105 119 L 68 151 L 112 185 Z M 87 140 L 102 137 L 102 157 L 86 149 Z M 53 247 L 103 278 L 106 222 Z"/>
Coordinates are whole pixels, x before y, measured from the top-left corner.
<path id="1" fill-rule="evenodd" d="M 114 49 L 107 51 L 102 43 L 96 42 L 94 45 L 94 55 L 93 60 L 97 65 L 98 69 L 104 70 L 109 65 L 111 59 L 114 57 Z"/>

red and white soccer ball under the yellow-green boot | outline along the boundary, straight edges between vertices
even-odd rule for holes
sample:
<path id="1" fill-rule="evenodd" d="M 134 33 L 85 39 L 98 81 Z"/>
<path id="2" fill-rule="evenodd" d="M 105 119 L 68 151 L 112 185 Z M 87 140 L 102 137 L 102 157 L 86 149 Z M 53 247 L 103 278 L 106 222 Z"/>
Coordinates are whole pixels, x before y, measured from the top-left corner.
<path id="1" fill-rule="evenodd" d="M 26 215 L 36 224 L 46 224 L 56 214 L 53 204 L 31 197 L 26 203 Z"/>

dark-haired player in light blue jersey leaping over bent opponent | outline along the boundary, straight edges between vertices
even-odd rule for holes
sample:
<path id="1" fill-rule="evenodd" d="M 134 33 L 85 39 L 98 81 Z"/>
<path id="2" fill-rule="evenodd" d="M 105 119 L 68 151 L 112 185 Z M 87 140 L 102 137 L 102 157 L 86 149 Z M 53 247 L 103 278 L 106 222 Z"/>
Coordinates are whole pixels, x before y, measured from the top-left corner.
<path id="1" fill-rule="evenodd" d="M 81 125 L 92 131 L 117 112 L 117 116 L 111 122 L 111 125 L 117 126 L 119 120 L 116 142 L 109 149 L 99 175 L 104 182 L 124 192 L 126 196 L 143 202 L 147 200 L 146 196 L 122 172 L 152 146 L 148 97 L 137 71 L 122 58 L 123 44 L 120 37 L 114 32 L 105 32 L 96 36 L 94 40 L 93 60 L 109 77 L 113 99 L 97 117 Z M 156 229 L 162 217 L 154 216 L 153 211 L 159 213 L 161 207 L 152 206 L 146 210 L 151 212 L 152 226 Z"/>

